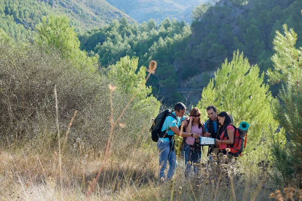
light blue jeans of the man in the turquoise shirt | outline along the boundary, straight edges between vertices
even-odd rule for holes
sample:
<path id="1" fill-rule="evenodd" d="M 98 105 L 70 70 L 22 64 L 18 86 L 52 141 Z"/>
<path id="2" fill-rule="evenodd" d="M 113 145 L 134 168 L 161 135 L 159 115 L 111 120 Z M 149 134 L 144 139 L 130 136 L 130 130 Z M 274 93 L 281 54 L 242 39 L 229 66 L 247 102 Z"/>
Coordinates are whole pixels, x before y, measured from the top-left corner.
<path id="1" fill-rule="evenodd" d="M 174 176 L 175 170 L 178 167 L 175 150 L 173 151 L 171 150 L 169 142 L 163 142 L 161 140 L 157 142 L 157 148 L 159 150 L 159 162 L 160 162 L 159 181 L 171 180 Z M 169 170 L 166 178 L 165 170 L 167 167 L 167 161 L 169 161 Z"/>

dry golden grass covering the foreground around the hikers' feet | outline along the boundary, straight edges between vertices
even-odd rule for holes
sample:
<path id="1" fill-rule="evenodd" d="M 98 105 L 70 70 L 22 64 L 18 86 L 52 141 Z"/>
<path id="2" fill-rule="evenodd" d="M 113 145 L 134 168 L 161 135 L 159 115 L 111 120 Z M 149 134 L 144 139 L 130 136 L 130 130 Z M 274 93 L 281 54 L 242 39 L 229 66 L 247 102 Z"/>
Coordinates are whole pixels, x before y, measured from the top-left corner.
<path id="1" fill-rule="evenodd" d="M 131 155 L 123 157 L 126 151 Z M 246 168 L 245 174 L 242 174 L 244 171 L 238 169 L 237 161 L 225 158 L 218 158 L 221 165 L 210 162 L 210 171 L 205 169 L 207 161 L 202 160 L 201 178 L 190 181 L 182 177 L 184 164 L 179 159 L 173 182 L 158 184 L 155 146 L 120 152 L 108 158 L 89 196 L 90 200 L 170 200 L 172 196 L 173 200 L 213 200 L 214 197 L 215 200 L 267 200 L 269 193 L 274 191 L 268 187 L 268 182 L 264 187 L 259 180 L 260 175 L 251 168 L 241 164 Z M 0 155 L 0 199 L 88 199 L 87 189 L 99 172 L 103 158 L 103 155 L 94 156 L 93 150 L 87 151 L 83 157 L 65 154 L 62 158 L 60 188 L 59 157 L 56 151 L 35 150 L 30 146 L 18 148 L 13 153 L 4 149 Z M 233 180 L 228 175 L 232 175 Z"/>

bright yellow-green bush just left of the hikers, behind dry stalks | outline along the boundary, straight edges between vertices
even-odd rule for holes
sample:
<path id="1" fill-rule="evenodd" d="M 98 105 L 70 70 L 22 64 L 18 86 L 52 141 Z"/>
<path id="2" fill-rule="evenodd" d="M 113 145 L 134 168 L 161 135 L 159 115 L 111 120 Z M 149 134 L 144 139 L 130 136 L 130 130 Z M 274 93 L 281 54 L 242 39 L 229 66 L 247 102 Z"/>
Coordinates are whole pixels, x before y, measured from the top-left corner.
<path id="1" fill-rule="evenodd" d="M 140 121 L 156 117 L 161 106 L 161 103 L 153 95 L 150 95 L 152 88 L 145 85 L 146 68 L 144 66 L 138 68 L 138 58 L 126 56 L 117 61 L 116 64 L 102 70 L 106 74 L 108 82 L 117 86 L 113 94 L 114 118 L 119 116 L 118 114 L 122 111 L 121 108 L 126 107 L 129 99 L 134 94 L 136 95 L 127 110 L 128 112 L 122 118 L 122 123 L 126 127 L 118 136 L 120 139 L 126 140 L 129 138 L 128 134 L 131 133 L 129 128 L 133 128 L 132 137 L 140 138 L 141 136 L 138 134 L 141 133 L 142 129 L 149 127 L 148 121 Z M 116 103 L 119 107 L 116 107 Z"/>

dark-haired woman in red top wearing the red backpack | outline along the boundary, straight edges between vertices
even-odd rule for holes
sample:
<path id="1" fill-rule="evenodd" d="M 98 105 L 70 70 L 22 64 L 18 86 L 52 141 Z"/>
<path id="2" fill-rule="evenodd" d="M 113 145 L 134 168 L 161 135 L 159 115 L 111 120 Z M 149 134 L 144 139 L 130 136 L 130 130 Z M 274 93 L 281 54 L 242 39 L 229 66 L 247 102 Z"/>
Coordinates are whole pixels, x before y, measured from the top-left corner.
<path id="1" fill-rule="evenodd" d="M 215 145 L 219 147 L 219 153 L 226 155 L 225 149 L 228 148 L 228 144 L 234 143 L 234 127 L 232 126 L 232 120 L 228 113 L 221 112 L 217 115 L 217 119 L 220 124 L 218 137 L 216 138 Z"/>

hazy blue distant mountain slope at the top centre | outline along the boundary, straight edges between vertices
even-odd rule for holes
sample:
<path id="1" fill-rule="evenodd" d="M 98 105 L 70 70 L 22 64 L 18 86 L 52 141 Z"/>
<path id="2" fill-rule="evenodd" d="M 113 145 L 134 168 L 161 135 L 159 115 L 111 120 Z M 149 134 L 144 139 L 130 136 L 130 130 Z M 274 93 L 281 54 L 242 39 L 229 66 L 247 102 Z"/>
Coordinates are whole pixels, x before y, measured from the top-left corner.
<path id="1" fill-rule="evenodd" d="M 167 17 L 178 21 L 191 23 L 192 10 L 201 3 L 210 0 L 106 0 L 114 7 L 123 10 L 137 22 L 147 22 L 150 19 L 160 24 Z"/>

